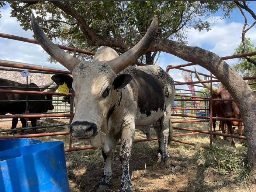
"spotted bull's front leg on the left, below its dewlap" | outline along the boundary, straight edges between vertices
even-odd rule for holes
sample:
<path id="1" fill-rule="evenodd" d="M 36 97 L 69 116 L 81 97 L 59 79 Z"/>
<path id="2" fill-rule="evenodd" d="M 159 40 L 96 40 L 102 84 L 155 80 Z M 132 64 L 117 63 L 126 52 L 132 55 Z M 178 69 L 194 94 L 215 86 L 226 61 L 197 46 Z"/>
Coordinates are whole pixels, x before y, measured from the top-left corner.
<path id="1" fill-rule="evenodd" d="M 105 190 L 109 189 L 110 180 L 112 178 L 112 169 L 111 169 L 112 150 L 110 150 L 108 153 L 105 153 L 102 150 L 102 156 L 104 159 L 104 171 L 100 181 L 98 182 L 97 192 L 104 192 Z"/>

